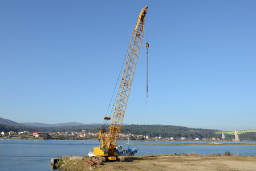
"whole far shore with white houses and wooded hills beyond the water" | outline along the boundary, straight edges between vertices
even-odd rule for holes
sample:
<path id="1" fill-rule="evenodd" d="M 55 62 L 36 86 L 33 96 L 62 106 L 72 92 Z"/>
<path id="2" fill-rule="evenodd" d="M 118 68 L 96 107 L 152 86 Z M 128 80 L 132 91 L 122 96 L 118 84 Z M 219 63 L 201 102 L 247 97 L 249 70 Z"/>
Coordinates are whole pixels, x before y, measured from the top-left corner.
<path id="1" fill-rule="evenodd" d="M 1 139 L 31 140 L 99 140 L 101 124 L 62 123 L 16 123 L 0 117 Z M 129 132 L 130 140 L 234 140 L 234 135 L 215 134 L 220 130 L 188 128 L 175 125 L 128 125 L 123 124 L 119 140 L 126 140 Z M 108 132 L 108 131 L 107 131 Z M 223 139 L 224 138 L 224 139 Z M 256 141 L 254 132 L 242 133 L 239 139 Z"/>

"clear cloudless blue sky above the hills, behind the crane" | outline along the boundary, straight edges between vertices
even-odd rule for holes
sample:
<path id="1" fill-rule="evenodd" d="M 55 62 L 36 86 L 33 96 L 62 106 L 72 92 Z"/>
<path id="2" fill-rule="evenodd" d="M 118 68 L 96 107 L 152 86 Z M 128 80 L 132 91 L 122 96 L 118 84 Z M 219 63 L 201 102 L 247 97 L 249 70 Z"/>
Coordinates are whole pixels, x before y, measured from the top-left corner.
<path id="1" fill-rule="evenodd" d="M 256 128 L 256 1 L 0 1 L 0 117 L 102 123 L 145 5 L 123 123 Z"/>

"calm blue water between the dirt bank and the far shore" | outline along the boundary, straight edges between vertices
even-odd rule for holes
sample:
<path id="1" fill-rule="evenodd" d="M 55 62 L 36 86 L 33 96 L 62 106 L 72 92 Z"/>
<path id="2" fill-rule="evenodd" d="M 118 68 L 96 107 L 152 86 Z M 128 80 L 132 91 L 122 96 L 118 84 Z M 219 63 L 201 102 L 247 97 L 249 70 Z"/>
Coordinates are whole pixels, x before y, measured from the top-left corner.
<path id="1" fill-rule="evenodd" d="M 127 148 L 125 141 L 118 141 Z M 256 145 L 143 145 L 155 143 L 212 143 L 212 141 L 133 141 L 139 148 L 136 156 L 148 154 L 224 154 L 256 156 Z M 218 141 L 218 143 L 227 143 Z M 256 142 L 228 142 L 256 144 Z M 99 141 L 83 140 L 7 140 L 0 139 L 0 170 L 52 170 L 51 158 L 86 156 Z"/>

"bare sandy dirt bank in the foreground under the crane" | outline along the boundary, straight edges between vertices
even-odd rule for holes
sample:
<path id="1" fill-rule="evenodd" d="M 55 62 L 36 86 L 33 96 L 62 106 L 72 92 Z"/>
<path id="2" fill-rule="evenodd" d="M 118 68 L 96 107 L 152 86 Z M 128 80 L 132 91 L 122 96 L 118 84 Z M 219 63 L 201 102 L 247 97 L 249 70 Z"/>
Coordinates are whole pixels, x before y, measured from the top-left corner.
<path id="1" fill-rule="evenodd" d="M 84 160 L 90 160 L 84 157 Z M 60 170 L 255 170 L 254 156 L 201 156 L 197 154 L 127 157 L 125 162 L 89 166 L 84 160 L 61 158 Z"/>

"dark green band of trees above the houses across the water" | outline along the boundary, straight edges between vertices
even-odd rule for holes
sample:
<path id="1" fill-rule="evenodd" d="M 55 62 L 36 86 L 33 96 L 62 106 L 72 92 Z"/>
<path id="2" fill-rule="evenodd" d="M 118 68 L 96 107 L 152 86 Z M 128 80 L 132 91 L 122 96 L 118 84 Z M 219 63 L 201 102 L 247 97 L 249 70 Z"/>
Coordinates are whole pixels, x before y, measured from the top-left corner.
<path id="1" fill-rule="evenodd" d="M 3 125 L 0 124 L 0 131 L 2 132 L 99 132 L 101 125 L 79 125 L 79 126 L 62 126 L 62 127 L 31 127 L 27 125 L 14 126 L 14 125 Z M 106 130 L 108 132 L 108 130 Z M 174 139 L 180 139 L 186 137 L 187 139 L 212 139 L 222 137 L 221 134 L 214 134 L 213 132 L 220 131 L 217 129 L 202 129 L 202 128 L 188 128 L 173 125 L 123 125 L 121 127 L 121 133 L 132 133 L 134 135 L 144 135 L 149 137 L 162 137 Z M 225 135 L 226 139 L 234 139 L 234 135 Z M 255 132 L 247 132 L 239 135 L 239 139 L 242 140 L 256 140 Z"/>

